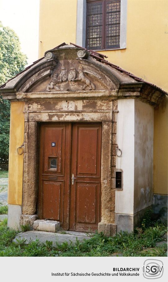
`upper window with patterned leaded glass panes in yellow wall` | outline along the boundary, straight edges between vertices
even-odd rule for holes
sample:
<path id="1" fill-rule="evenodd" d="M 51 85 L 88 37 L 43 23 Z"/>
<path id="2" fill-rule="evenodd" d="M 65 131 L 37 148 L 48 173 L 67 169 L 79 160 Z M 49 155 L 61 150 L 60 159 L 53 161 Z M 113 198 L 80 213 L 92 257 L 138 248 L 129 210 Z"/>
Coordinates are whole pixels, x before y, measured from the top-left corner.
<path id="1" fill-rule="evenodd" d="M 87 0 L 86 48 L 119 48 L 121 0 Z"/>

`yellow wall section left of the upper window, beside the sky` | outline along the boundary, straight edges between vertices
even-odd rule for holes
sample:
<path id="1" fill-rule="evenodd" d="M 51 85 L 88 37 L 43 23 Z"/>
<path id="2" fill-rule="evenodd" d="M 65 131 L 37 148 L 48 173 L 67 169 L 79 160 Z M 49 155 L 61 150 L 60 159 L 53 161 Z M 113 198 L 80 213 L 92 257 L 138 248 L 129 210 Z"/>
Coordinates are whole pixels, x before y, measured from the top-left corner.
<path id="1" fill-rule="evenodd" d="M 39 58 L 66 41 L 76 41 L 77 0 L 40 0 Z"/>

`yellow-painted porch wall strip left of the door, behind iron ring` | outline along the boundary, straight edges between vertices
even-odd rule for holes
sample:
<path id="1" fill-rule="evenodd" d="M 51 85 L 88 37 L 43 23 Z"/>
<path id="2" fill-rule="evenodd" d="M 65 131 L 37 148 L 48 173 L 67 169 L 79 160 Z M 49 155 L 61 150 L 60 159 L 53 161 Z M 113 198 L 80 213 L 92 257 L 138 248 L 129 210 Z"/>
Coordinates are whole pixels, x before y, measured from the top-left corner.
<path id="1" fill-rule="evenodd" d="M 17 148 L 24 140 L 25 102 L 11 102 L 10 141 L 9 141 L 9 187 L 8 204 L 22 204 L 23 154 Z"/>

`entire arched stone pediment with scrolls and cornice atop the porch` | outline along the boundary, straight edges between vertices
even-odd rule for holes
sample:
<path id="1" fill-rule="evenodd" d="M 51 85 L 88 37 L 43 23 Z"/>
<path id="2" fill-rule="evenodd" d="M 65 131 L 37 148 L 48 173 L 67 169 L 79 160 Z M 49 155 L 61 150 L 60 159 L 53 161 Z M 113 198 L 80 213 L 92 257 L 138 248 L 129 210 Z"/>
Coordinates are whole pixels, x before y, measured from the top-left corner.
<path id="1" fill-rule="evenodd" d="M 93 93 L 99 97 L 102 91 L 107 90 L 108 95 L 138 97 L 154 106 L 165 96 L 166 93 L 160 88 L 134 77 L 104 57 L 94 51 L 63 43 L 46 51 L 44 58 L 3 84 L 0 93 L 4 99 L 11 100 L 18 97 L 31 99 L 33 95 L 34 98 L 45 96 L 52 99 L 62 97 L 62 93 L 68 96 L 68 92 L 73 97 L 92 97 Z"/>

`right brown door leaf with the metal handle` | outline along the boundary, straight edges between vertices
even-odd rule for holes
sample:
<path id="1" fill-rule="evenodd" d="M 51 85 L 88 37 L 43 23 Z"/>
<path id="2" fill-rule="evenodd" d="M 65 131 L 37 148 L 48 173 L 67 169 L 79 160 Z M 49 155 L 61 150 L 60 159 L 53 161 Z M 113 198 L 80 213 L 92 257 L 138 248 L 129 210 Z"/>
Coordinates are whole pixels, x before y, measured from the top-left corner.
<path id="1" fill-rule="evenodd" d="M 69 229 L 96 230 L 100 222 L 101 124 L 74 123 Z"/>

